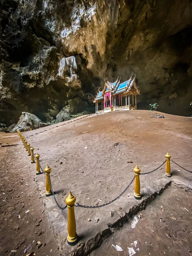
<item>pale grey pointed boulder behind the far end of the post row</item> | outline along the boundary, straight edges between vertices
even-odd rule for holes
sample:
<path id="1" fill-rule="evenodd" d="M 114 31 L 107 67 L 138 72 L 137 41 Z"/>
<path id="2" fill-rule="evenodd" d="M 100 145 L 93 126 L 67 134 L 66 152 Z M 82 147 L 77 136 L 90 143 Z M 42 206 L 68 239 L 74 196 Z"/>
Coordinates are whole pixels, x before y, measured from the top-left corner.
<path id="1" fill-rule="evenodd" d="M 15 128 L 13 128 L 13 132 L 16 132 L 17 130 L 19 131 L 24 131 L 24 130 L 30 130 L 35 129 L 35 128 L 40 128 L 47 126 L 49 124 L 44 123 L 39 119 L 37 116 L 28 113 L 28 112 L 22 112 L 22 115 L 20 116 L 19 121 L 17 122 Z"/>

